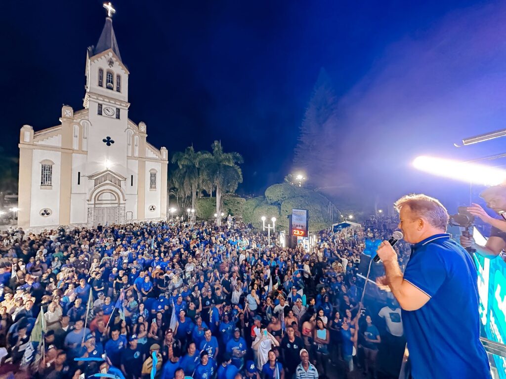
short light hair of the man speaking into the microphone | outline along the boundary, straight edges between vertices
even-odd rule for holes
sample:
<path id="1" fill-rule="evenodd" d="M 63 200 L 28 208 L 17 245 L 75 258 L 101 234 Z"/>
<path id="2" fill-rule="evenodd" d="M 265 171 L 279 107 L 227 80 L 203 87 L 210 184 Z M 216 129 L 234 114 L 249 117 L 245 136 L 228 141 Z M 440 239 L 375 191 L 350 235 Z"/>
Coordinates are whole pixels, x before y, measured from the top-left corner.
<path id="1" fill-rule="evenodd" d="M 437 199 L 424 194 L 406 195 L 394 203 L 397 212 L 408 206 L 411 212 L 419 218 L 423 218 L 437 229 L 446 231 L 448 225 L 448 211 Z"/>

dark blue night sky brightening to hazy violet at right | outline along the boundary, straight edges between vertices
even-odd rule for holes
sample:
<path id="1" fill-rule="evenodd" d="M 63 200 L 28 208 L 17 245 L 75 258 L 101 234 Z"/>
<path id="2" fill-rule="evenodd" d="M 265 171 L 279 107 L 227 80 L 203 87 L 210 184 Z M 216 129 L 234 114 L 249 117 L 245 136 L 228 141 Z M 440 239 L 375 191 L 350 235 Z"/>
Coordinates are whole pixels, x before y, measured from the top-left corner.
<path id="1" fill-rule="evenodd" d="M 356 165 L 362 182 L 417 191 L 427 177 L 395 180 L 413 179 L 399 172 L 417 153 L 469 159 L 506 150 L 503 141 L 452 147 L 506 127 L 503 3 L 116 0 L 113 27 L 131 73 L 130 118 L 170 153 L 221 139 L 244 157 L 240 193 L 260 193 L 290 172 L 322 67 L 343 135 L 322 154 Z M 23 124 L 54 126 L 62 104 L 82 107 L 86 48 L 105 10 L 97 0 L 0 7 L 0 146 L 17 155 Z"/>

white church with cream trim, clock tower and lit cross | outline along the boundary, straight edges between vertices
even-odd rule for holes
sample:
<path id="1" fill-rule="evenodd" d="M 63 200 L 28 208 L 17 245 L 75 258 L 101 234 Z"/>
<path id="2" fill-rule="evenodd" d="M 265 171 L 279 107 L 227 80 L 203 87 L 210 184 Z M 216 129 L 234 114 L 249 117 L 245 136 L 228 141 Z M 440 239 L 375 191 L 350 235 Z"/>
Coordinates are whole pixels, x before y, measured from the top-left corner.
<path id="1" fill-rule="evenodd" d="M 114 9 L 86 57 L 83 109 L 61 109 L 60 123 L 19 139 L 18 225 L 97 226 L 166 218 L 168 152 L 129 119 L 128 78 L 112 28 Z"/>

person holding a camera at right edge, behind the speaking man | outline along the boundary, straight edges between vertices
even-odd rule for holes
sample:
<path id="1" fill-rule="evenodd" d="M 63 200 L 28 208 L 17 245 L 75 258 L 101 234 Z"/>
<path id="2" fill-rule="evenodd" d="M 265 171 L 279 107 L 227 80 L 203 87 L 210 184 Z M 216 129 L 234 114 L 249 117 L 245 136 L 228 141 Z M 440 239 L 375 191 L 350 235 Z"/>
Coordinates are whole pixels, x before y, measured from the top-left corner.
<path id="1" fill-rule="evenodd" d="M 494 210 L 497 214 L 506 211 L 506 186 L 495 185 L 489 187 L 480 194 L 480 197 L 485 200 L 487 207 Z M 460 245 L 465 248 L 475 249 L 483 257 L 495 258 L 506 248 L 506 221 L 489 216 L 480 205 L 474 203 L 471 207 L 468 207 L 468 212 L 492 226 L 490 237 L 487 243 L 482 246 L 475 242 L 473 236 L 461 235 Z"/>

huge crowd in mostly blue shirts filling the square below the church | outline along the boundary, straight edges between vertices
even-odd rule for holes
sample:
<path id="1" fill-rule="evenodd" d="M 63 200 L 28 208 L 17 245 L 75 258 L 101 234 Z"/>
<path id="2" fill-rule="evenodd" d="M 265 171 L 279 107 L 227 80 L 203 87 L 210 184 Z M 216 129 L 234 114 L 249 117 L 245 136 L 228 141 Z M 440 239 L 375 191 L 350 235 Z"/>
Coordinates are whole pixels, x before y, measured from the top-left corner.
<path id="1" fill-rule="evenodd" d="M 361 253 L 397 222 L 324 230 L 309 251 L 230 217 L 10 230 L 0 237 L 0 374 L 376 377 L 378 350 L 403 344 L 402 322 L 393 298 L 362 304 Z M 409 247 L 396 249 L 405 264 Z"/>

